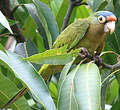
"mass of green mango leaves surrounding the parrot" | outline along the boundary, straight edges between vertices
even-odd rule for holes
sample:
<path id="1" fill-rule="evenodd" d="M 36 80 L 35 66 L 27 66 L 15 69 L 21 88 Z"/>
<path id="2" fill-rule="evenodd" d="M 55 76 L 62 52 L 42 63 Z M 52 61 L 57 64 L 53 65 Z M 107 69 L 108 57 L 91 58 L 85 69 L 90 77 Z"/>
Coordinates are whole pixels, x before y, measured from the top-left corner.
<path id="1" fill-rule="evenodd" d="M 114 51 L 120 54 L 120 0 L 83 2 L 88 5 L 74 7 L 68 24 L 78 18 L 87 18 L 98 10 L 112 11 L 118 17 L 118 22 L 115 32 L 107 37 L 102 59 L 108 64 L 116 63 L 115 55 L 105 53 Z M 81 61 L 80 64 L 73 65 L 81 49 L 70 53 L 66 52 L 66 46 L 50 49 L 60 34 L 69 7 L 68 0 L 10 0 L 10 6 L 18 6 L 14 12 L 16 20 L 8 19 L 0 11 L 0 107 L 22 88 L 27 88 L 28 92 L 22 98 L 5 108 L 105 110 L 105 105 L 109 104 L 111 110 L 119 110 L 119 70 L 108 78 L 114 71 L 100 68 L 93 62 L 82 64 Z M 14 52 L 10 52 L 5 47 L 11 35 L 14 36 L 10 28 L 14 24 L 19 24 L 26 42 L 15 42 L 10 47 Z M 65 66 L 58 74 L 59 78 L 55 75 L 47 82 L 38 74 L 42 64 Z"/>

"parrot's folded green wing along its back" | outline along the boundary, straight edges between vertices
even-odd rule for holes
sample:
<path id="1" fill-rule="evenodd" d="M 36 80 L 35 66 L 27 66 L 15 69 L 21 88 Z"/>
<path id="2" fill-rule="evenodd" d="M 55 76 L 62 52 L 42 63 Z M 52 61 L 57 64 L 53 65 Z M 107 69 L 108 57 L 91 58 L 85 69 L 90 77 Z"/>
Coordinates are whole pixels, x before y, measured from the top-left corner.
<path id="1" fill-rule="evenodd" d="M 56 39 L 53 48 L 60 48 L 68 45 L 68 49 L 72 49 L 84 37 L 89 28 L 87 19 L 79 19 L 70 24 Z"/>

